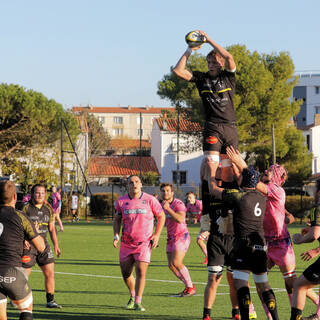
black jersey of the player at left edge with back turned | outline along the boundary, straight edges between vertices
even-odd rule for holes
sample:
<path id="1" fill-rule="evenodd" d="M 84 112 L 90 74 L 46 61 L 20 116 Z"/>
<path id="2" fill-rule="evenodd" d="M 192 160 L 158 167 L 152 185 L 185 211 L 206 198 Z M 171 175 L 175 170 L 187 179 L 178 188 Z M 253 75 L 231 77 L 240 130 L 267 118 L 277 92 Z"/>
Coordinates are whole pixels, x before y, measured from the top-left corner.
<path id="1" fill-rule="evenodd" d="M 21 211 L 0 206 L 0 266 L 21 267 L 24 240 L 38 233 L 31 220 Z"/>

